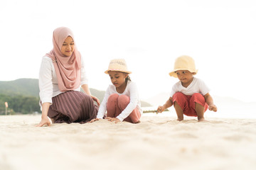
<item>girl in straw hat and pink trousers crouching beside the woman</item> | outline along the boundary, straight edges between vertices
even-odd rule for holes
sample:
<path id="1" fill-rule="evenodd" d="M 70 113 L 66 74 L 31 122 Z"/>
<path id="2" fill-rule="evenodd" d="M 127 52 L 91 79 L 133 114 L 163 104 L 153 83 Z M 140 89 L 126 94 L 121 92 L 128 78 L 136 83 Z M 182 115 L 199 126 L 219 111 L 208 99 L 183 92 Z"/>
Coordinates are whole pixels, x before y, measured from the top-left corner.
<path id="1" fill-rule="evenodd" d="M 137 86 L 129 78 L 127 64 L 123 59 L 111 60 L 105 74 L 110 75 L 112 84 L 108 86 L 104 99 L 97 113 L 97 118 L 102 119 L 107 111 L 107 119 L 111 122 L 127 121 L 129 123 L 139 123 L 142 115 L 141 103 Z"/>

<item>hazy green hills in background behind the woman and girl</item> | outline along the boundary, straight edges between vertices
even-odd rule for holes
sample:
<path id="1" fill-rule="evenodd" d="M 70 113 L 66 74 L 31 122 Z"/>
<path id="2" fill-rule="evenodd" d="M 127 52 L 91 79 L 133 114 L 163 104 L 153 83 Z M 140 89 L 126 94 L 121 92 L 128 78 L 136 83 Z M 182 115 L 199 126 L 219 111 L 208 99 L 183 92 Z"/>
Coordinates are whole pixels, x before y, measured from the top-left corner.
<path id="1" fill-rule="evenodd" d="M 105 91 L 90 89 L 93 96 L 103 100 Z M 14 81 L 0 81 L 0 114 L 4 114 L 4 102 L 9 103 L 9 111 L 12 113 L 40 112 L 38 106 L 39 87 L 38 79 L 16 79 Z M 142 102 L 142 107 L 151 106 Z"/>

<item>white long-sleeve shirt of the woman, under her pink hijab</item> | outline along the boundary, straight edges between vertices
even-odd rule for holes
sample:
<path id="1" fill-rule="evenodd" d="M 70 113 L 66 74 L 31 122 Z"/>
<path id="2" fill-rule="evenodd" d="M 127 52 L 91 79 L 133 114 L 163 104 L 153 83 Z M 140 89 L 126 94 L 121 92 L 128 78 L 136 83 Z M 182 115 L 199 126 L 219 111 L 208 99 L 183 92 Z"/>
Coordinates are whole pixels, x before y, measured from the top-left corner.
<path id="1" fill-rule="evenodd" d="M 81 57 L 81 83 L 80 85 L 88 84 L 87 75 L 85 74 L 85 65 Z M 58 88 L 58 79 L 55 73 L 55 68 L 53 65 L 53 60 L 50 57 L 44 56 L 41 62 L 40 72 L 39 72 L 39 96 L 42 103 L 52 103 L 52 98 L 58 94 L 63 93 Z M 75 91 L 80 91 L 74 89 Z"/>

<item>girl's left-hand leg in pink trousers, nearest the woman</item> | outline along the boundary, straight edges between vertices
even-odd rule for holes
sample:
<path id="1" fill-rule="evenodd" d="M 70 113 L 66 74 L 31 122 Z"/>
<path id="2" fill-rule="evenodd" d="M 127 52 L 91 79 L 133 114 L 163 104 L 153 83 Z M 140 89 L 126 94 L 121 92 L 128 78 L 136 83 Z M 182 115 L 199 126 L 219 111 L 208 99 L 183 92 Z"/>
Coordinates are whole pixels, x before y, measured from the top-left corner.
<path id="1" fill-rule="evenodd" d="M 115 118 L 122 111 L 118 107 L 117 99 L 119 98 L 118 94 L 112 94 L 107 99 L 107 117 Z"/>

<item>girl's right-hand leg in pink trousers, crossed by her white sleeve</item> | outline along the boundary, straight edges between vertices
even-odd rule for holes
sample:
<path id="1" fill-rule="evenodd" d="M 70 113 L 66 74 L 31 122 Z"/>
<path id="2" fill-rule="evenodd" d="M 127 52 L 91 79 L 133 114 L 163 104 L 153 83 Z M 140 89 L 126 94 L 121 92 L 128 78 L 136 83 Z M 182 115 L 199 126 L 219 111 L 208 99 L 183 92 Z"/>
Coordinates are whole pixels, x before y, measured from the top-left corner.
<path id="1" fill-rule="evenodd" d="M 129 104 L 129 97 L 125 95 L 121 95 L 118 98 L 118 106 L 121 111 L 124 111 L 124 109 L 128 106 Z M 139 118 L 141 118 L 141 113 L 139 112 L 138 108 L 134 108 L 132 113 L 129 114 L 127 118 L 124 119 L 124 121 L 127 121 L 129 123 L 138 123 Z"/>

